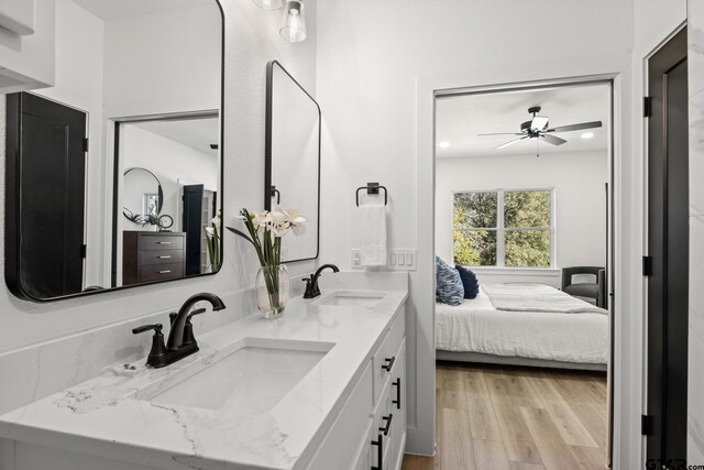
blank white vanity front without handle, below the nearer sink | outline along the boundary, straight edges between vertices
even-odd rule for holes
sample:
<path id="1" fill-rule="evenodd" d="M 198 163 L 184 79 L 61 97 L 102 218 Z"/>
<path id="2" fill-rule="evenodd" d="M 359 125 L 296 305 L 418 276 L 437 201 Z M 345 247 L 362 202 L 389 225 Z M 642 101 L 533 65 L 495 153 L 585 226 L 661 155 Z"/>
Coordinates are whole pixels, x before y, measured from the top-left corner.
<path id="1" fill-rule="evenodd" d="M 330 470 L 352 467 L 362 442 L 369 442 L 366 435 L 371 409 L 372 368 L 371 363 L 367 363 L 362 378 L 332 423 L 308 469 Z"/>

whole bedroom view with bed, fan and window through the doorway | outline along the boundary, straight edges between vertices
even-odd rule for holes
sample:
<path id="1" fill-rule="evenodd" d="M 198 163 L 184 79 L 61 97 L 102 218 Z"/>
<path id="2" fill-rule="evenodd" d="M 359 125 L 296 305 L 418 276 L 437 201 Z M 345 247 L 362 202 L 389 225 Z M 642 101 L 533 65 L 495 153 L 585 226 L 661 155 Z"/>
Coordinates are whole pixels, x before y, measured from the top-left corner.
<path id="1" fill-rule="evenodd" d="M 535 442 L 557 430 L 563 464 L 603 467 L 610 84 L 438 97 L 436 144 L 439 272 L 460 265 L 465 297 L 436 304 L 442 464 L 471 463 L 443 449 L 466 427 L 475 459 L 488 440 L 506 463 L 552 463 Z"/>

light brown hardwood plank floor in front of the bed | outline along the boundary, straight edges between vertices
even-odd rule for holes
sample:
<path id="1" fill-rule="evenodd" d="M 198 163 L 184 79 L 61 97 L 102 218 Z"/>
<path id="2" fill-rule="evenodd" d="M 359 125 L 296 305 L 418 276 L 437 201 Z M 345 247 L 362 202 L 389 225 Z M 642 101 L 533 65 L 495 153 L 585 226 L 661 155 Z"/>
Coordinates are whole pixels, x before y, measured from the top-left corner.
<path id="1" fill-rule="evenodd" d="M 435 458 L 403 470 L 596 470 L 606 463 L 606 374 L 439 362 Z"/>

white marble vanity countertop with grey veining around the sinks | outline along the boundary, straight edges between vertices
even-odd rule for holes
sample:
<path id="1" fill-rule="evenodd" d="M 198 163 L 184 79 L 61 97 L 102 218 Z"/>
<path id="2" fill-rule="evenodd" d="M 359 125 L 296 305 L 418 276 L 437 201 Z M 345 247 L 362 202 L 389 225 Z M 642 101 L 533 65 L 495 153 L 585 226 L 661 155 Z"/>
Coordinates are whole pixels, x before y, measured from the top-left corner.
<path id="1" fill-rule="evenodd" d="M 151 369 L 140 362 L 135 370 L 116 364 L 98 378 L 7 413 L 0 416 L 0 437 L 163 469 L 305 468 L 407 295 L 386 291 L 369 308 L 294 298 L 279 319 L 257 314 L 202 335 L 197 338 L 200 351 L 175 364 Z M 222 314 L 227 309 L 206 315 Z M 201 364 L 226 357 L 243 338 L 334 346 L 264 414 L 139 398 L 145 387 L 153 396 L 155 383 L 166 390 L 190 375 L 189 367 L 201 370 Z"/>

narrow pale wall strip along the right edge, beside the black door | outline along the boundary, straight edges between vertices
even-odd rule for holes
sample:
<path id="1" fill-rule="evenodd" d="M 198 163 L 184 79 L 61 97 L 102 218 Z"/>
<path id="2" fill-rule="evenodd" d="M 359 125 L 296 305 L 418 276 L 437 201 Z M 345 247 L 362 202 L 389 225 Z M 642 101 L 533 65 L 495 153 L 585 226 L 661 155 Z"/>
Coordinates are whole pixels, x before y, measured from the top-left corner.
<path id="1" fill-rule="evenodd" d="M 690 329 L 688 463 L 704 462 L 704 4 L 688 9 L 690 86 Z"/>

